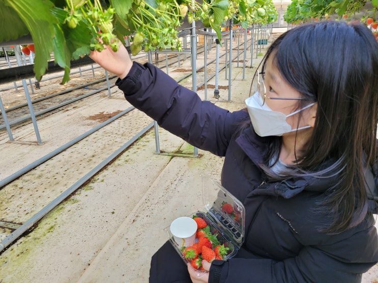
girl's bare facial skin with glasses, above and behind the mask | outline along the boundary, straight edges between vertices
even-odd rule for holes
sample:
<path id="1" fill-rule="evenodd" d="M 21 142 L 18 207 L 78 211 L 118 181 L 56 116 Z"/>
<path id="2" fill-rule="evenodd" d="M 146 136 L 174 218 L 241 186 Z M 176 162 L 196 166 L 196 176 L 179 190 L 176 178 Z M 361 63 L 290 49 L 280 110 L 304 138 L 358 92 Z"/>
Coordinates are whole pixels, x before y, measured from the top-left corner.
<path id="1" fill-rule="evenodd" d="M 269 98 L 302 98 L 301 93 L 294 87 L 289 85 L 281 76 L 277 66 L 273 62 L 274 55 L 272 54 L 268 60 L 265 69 L 264 83 L 266 88 L 266 99 L 265 103 L 273 111 L 281 112 L 285 115 L 291 114 L 298 110 L 298 104 L 302 101 L 300 100 L 284 100 L 284 99 L 269 99 Z M 310 103 L 310 102 L 309 102 Z M 309 103 L 304 103 L 306 106 Z M 292 129 L 297 129 L 311 125 L 313 127 L 314 115 L 316 114 L 316 104 L 310 108 L 304 109 L 300 113 L 286 118 L 286 122 L 292 127 Z M 298 118 L 301 117 L 298 124 Z M 313 118 L 313 121 L 311 121 Z"/>

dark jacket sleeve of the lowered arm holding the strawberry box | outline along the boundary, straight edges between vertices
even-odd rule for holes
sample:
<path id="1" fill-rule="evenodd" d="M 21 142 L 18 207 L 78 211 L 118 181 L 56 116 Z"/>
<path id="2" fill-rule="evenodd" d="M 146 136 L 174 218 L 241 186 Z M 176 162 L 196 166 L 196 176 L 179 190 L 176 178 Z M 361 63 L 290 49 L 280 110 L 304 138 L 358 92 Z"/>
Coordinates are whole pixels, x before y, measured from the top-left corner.
<path id="1" fill-rule="evenodd" d="M 357 248 L 356 248 L 357 247 Z M 361 282 L 362 273 L 377 262 L 374 226 L 332 244 L 305 246 L 283 261 L 232 258 L 224 262 L 219 282 Z M 210 279 L 209 282 L 216 281 Z"/>

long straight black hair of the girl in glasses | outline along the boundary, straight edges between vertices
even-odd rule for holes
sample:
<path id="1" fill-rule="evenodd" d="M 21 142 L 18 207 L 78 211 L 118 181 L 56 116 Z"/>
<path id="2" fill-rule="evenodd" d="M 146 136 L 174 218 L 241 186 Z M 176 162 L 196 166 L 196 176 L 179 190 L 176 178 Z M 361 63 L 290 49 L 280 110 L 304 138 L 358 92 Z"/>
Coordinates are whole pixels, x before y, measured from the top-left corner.
<path id="1" fill-rule="evenodd" d="M 331 217 L 331 225 L 322 231 L 339 233 L 358 225 L 367 213 L 364 171 L 376 160 L 378 43 L 365 25 L 316 22 L 278 37 L 263 69 L 270 56 L 288 84 L 317 102 L 312 136 L 292 172 L 338 175 L 318 206 Z M 300 101 L 298 108 L 302 105 Z M 277 140 L 267 160 L 277 158 Z M 320 172 L 327 160 L 334 161 L 332 166 Z"/>

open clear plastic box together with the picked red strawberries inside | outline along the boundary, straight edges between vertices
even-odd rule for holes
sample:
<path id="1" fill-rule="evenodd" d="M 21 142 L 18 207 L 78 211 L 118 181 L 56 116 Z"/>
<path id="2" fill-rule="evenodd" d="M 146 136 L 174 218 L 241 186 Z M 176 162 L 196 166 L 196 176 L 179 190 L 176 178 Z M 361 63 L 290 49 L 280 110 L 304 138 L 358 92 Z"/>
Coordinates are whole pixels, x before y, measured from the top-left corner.
<path id="1" fill-rule="evenodd" d="M 222 185 L 206 173 L 201 173 L 204 211 L 196 211 L 187 217 L 197 224 L 195 241 L 185 246 L 175 240 L 170 227 L 165 228 L 169 241 L 181 258 L 198 272 L 207 272 L 201 260 L 227 260 L 236 255 L 244 241 L 243 204 L 232 196 Z"/>

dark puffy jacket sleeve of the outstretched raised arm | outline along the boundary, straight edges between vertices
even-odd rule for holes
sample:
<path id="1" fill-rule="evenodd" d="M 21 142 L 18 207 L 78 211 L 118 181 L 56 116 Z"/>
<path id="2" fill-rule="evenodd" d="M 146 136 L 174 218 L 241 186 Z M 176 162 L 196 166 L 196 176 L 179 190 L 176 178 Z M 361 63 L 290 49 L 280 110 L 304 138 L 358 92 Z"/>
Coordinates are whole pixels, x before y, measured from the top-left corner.
<path id="1" fill-rule="evenodd" d="M 230 113 L 169 77 L 155 66 L 133 62 L 129 75 L 116 85 L 135 108 L 158 122 L 165 130 L 193 146 L 224 156 L 235 123 L 244 111 Z"/>

